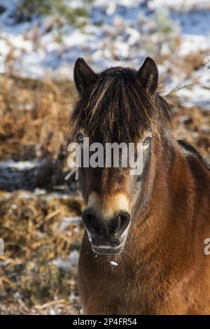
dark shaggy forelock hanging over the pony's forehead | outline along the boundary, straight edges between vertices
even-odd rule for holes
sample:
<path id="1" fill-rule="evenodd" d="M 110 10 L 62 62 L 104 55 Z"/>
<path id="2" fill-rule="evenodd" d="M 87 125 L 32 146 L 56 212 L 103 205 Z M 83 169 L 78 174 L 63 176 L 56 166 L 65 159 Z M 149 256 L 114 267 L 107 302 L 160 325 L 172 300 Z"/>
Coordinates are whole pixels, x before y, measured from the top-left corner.
<path id="1" fill-rule="evenodd" d="M 106 69 L 78 99 L 71 113 L 72 135 L 85 130 L 102 142 L 129 142 L 149 127 L 170 122 L 168 105 L 157 93 L 153 99 L 135 79 L 137 71 Z"/>

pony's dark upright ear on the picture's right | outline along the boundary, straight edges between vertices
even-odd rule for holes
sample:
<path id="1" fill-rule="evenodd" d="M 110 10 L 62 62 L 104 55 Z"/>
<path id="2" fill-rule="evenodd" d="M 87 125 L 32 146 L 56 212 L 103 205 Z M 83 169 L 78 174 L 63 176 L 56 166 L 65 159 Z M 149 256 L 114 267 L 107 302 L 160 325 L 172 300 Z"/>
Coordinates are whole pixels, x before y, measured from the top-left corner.
<path id="1" fill-rule="evenodd" d="M 158 67 L 151 57 L 146 57 L 144 63 L 137 72 L 136 80 L 146 89 L 150 94 L 158 88 Z"/>

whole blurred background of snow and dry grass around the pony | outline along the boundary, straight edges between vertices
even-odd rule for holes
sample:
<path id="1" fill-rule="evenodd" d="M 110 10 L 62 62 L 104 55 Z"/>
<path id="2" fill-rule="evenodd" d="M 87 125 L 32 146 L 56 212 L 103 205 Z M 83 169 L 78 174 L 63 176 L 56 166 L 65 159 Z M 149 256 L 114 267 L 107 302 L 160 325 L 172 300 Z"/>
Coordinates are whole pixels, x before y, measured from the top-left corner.
<path id="1" fill-rule="evenodd" d="M 139 69 L 148 55 L 175 136 L 210 161 L 209 0 L 0 0 L 0 314 L 80 314 L 73 64 Z"/>

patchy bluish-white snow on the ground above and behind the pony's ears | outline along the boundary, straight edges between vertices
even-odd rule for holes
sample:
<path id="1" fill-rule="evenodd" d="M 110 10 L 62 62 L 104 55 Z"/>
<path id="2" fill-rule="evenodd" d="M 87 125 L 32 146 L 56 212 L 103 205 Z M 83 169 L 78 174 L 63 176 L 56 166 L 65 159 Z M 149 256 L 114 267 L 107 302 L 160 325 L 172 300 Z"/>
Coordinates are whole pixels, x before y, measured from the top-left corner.
<path id="1" fill-rule="evenodd" d="M 0 54 L 12 58 L 6 70 L 12 65 L 21 76 L 71 79 L 78 57 L 85 57 L 99 71 L 111 65 L 138 68 L 147 55 L 157 60 L 165 57 L 159 69 L 166 93 L 178 85 L 197 83 L 180 90 L 179 97 L 183 104 L 193 97 L 193 104 L 208 108 L 210 70 L 204 67 L 210 55 L 209 0 L 95 0 L 89 5 L 85 27 L 65 23 L 59 29 L 53 17 L 15 24 L 17 4 L 18 0 L 0 0 L 6 9 L 0 15 Z M 83 1 L 68 6 L 82 7 Z M 177 60 L 199 51 L 203 67 L 186 76 Z"/>

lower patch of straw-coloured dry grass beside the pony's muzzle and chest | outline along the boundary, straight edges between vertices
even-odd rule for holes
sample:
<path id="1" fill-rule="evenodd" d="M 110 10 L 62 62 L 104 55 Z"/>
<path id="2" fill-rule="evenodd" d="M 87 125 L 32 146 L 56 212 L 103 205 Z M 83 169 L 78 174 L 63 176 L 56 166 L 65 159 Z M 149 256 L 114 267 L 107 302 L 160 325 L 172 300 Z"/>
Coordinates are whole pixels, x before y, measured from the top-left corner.
<path id="1" fill-rule="evenodd" d="M 48 314 L 52 306 L 61 314 L 78 313 L 76 266 L 65 269 L 53 261 L 66 261 L 78 251 L 80 225 L 72 223 L 65 230 L 60 225 L 66 216 L 80 216 L 81 207 L 71 198 L 1 193 L 1 314 Z"/>

